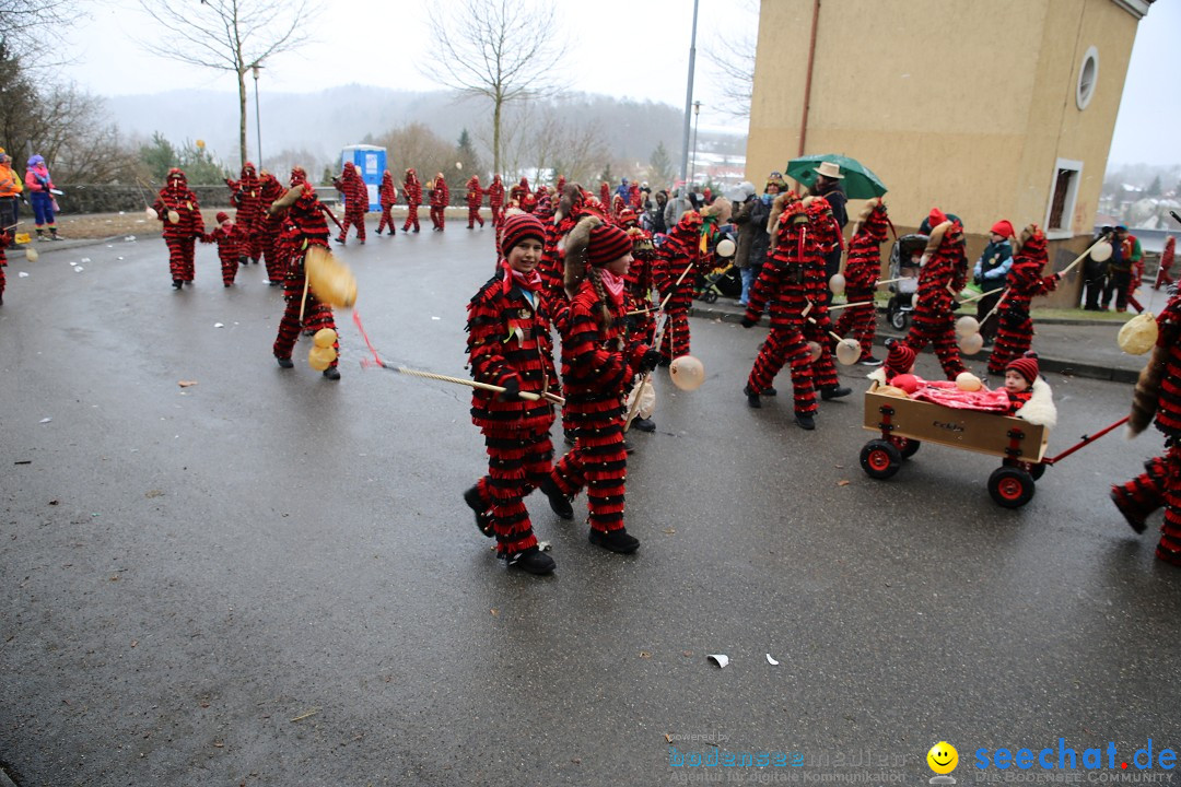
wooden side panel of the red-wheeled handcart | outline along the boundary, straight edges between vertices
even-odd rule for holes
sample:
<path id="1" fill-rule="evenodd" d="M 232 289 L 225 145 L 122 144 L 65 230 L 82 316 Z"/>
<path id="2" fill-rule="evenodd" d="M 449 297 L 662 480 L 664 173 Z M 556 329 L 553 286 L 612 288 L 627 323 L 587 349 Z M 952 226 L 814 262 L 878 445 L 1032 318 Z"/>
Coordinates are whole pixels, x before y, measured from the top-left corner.
<path id="1" fill-rule="evenodd" d="M 1049 441 L 1049 429 L 1044 426 L 1010 415 L 986 413 L 978 409 L 955 409 L 928 401 L 915 401 L 900 396 L 866 392 L 864 427 L 881 432 L 882 407 L 892 407 L 892 434 L 924 442 L 965 448 L 1005 458 L 1009 454 L 1009 432 L 1019 429 L 1025 437 L 1022 440 L 1024 461 L 1042 461 Z"/>

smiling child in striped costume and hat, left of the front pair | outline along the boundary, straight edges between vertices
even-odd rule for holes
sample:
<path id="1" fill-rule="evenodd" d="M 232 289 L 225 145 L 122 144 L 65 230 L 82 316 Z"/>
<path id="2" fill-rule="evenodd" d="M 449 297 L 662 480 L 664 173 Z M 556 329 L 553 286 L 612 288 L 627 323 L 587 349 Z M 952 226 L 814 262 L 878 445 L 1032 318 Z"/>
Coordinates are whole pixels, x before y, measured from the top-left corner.
<path id="1" fill-rule="evenodd" d="M 546 228 L 535 216 L 504 221 L 500 270 L 468 303 L 468 362 L 474 380 L 505 388 L 472 389 L 471 421 L 484 435 L 488 474 L 463 493 L 476 527 L 496 537 L 497 557 L 510 569 L 542 575 L 554 560 L 537 547 L 524 498 L 541 488 L 561 498 L 554 481 L 549 428 L 554 406 L 528 392 L 557 392 L 550 317 L 537 273 Z"/>

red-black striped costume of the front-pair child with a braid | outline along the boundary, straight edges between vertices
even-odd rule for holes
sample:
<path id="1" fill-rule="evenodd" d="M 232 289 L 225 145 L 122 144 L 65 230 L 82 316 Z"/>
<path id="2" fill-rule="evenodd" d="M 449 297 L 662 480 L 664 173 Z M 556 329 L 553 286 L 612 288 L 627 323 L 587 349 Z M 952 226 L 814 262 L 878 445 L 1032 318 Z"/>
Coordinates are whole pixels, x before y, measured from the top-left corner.
<path id="1" fill-rule="evenodd" d="M 588 268 L 554 320 L 562 335 L 562 418 L 575 440 L 553 478 L 567 497 L 586 487 L 590 529 L 608 532 L 624 527 L 624 396 L 648 348 L 627 340 L 624 301 L 595 283 L 599 275 Z"/>

